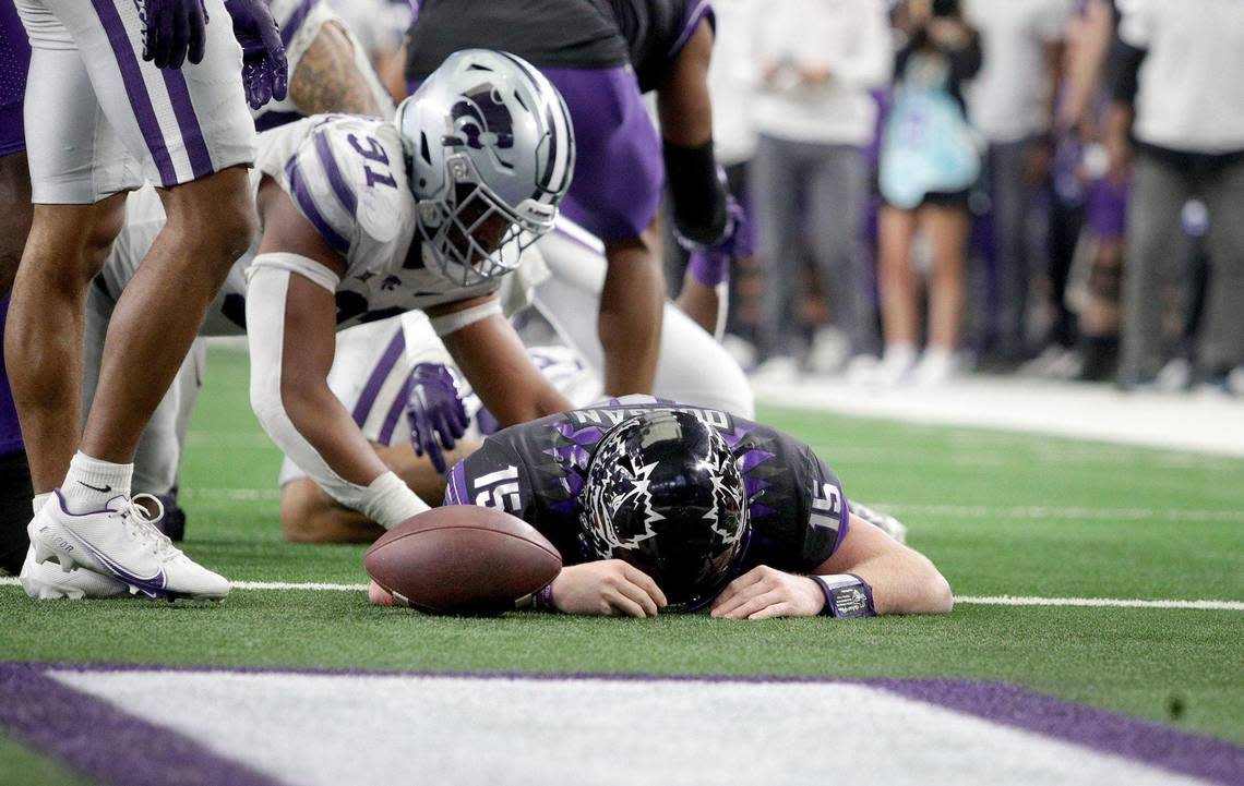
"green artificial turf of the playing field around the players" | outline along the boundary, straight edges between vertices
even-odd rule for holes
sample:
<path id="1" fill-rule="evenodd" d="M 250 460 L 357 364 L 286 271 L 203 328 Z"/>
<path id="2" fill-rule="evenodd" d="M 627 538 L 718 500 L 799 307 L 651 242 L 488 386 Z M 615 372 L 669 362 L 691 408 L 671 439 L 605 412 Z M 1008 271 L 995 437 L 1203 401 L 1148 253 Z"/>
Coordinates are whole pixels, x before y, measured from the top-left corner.
<path id="1" fill-rule="evenodd" d="M 244 356 L 214 351 L 207 379 L 182 476 L 185 550 L 233 580 L 363 582 L 362 547 L 280 540 L 280 454 L 250 414 Z M 959 596 L 1244 601 L 1242 460 L 786 409 L 761 419 L 814 445 L 850 497 L 901 512 Z M 6 660 L 986 679 L 1244 744 L 1234 611 L 457 619 L 372 608 L 356 592 L 168 606 L 39 603 L 2 587 L 0 616 Z M 0 771 L 22 755 L 0 741 Z"/>

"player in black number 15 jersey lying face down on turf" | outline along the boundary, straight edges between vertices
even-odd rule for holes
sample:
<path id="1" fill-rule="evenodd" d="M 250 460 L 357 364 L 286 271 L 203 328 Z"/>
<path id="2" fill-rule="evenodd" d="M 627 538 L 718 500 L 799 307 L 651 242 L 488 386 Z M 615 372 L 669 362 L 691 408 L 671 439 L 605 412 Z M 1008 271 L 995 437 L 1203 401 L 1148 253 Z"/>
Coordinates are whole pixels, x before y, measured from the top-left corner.
<path id="1" fill-rule="evenodd" d="M 765 619 L 954 603 L 932 562 L 851 512 L 811 448 L 713 409 L 628 397 L 505 429 L 453 468 L 445 502 L 505 510 L 557 547 L 566 567 L 536 609 Z M 392 603 L 374 583 L 371 599 Z"/>

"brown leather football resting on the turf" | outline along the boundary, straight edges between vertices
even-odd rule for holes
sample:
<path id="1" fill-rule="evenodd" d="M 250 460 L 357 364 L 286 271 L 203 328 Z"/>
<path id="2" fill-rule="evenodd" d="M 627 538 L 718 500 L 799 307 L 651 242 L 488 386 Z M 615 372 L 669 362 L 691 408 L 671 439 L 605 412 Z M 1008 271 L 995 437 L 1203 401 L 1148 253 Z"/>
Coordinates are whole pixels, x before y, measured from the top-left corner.
<path id="1" fill-rule="evenodd" d="M 521 519 L 447 505 L 386 532 L 363 566 L 397 603 L 430 614 L 499 614 L 556 578 L 561 555 Z"/>

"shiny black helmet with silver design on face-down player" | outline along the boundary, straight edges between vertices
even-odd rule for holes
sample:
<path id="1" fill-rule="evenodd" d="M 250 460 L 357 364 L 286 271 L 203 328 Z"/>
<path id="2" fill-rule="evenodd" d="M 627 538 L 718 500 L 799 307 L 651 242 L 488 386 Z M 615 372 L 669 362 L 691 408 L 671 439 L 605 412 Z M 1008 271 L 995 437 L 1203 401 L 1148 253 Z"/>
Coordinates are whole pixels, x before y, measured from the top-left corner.
<path id="1" fill-rule="evenodd" d="M 667 611 L 703 608 L 733 578 L 750 534 L 743 473 L 713 427 L 656 409 L 597 443 L 581 496 L 588 560 L 623 560 L 651 576 Z"/>

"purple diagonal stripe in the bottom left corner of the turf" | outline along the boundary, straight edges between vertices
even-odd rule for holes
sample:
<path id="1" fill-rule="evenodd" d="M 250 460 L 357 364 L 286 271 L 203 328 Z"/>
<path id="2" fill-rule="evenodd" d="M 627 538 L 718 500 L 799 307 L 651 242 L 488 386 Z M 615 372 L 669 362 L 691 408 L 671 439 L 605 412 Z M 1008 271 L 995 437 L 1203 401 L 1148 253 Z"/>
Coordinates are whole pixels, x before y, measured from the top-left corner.
<path id="1" fill-rule="evenodd" d="M 109 786 L 282 786 L 163 726 L 73 690 L 44 664 L 0 663 L 0 729 Z"/>

